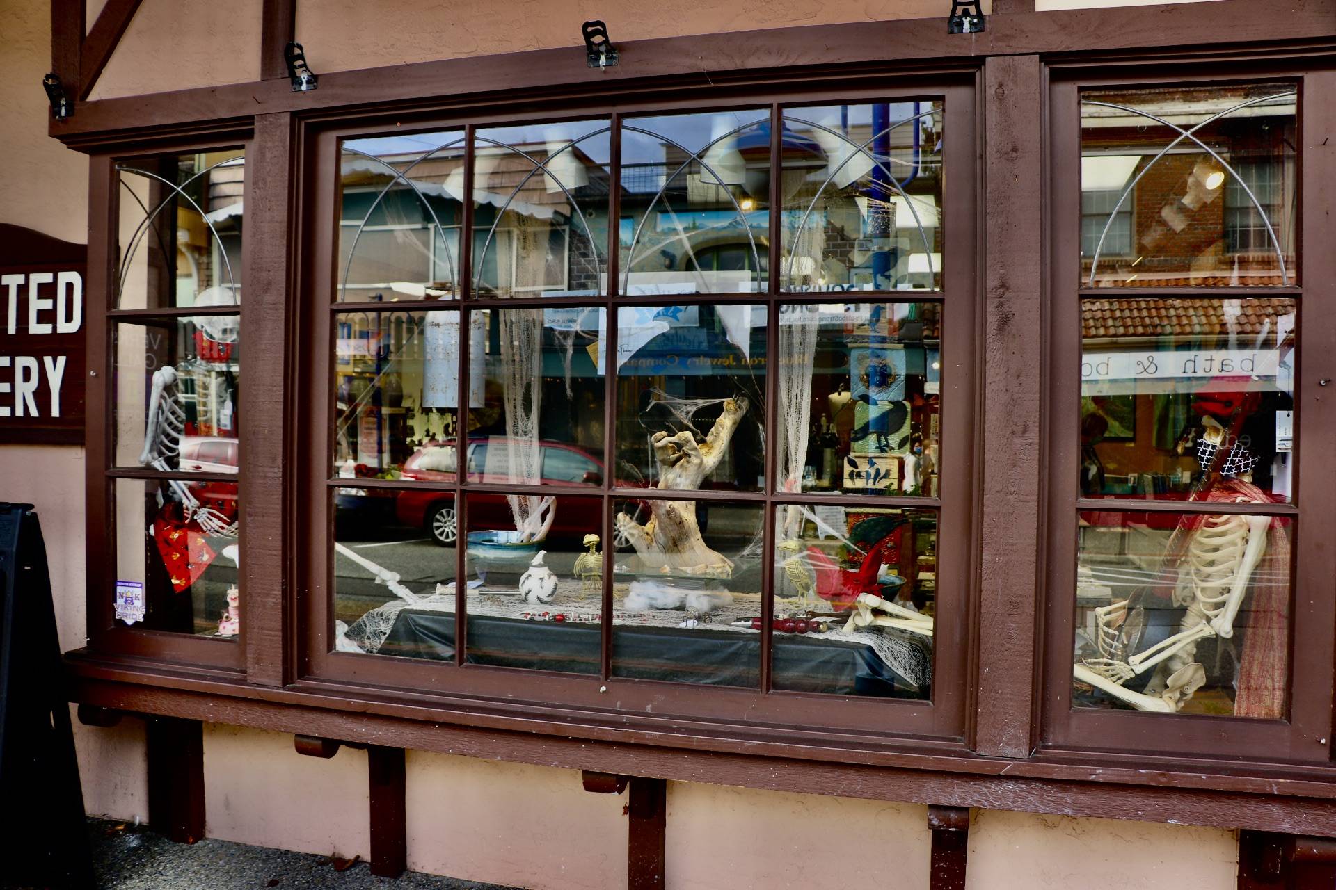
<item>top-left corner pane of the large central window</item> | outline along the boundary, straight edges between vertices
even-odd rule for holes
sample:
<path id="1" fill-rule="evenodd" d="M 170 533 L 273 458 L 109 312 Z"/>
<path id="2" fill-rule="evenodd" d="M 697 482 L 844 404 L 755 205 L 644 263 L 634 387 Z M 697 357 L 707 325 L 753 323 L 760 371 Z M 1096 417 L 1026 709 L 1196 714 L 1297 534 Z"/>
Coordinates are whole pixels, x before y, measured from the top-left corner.
<path id="1" fill-rule="evenodd" d="M 462 197 L 462 131 L 343 141 L 339 299 L 457 296 Z"/>

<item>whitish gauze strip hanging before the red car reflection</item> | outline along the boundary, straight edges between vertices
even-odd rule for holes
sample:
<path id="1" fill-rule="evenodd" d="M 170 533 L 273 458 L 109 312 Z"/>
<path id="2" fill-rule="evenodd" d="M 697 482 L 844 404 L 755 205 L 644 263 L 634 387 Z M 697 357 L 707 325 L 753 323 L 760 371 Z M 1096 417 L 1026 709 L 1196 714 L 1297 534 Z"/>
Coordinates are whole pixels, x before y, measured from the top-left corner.
<path id="1" fill-rule="evenodd" d="M 538 412 L 542 406 L 542 310 L 505 310 L 501 314 L 501 395 L 505 404 L 506 471 L 510 482 L 541 482 Z M 536 536 L 550 499 L 506 495 L 516 531 Z"/>

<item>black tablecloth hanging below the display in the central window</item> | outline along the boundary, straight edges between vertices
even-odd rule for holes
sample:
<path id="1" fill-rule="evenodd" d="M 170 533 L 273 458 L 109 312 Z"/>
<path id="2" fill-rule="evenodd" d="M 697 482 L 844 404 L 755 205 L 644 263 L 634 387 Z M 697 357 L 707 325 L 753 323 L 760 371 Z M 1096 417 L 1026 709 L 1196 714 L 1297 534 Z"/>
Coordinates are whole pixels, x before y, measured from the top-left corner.
<path id="1" fill-rule="evenodd" d="M 469 615 L 468 660 L 573 674 L 599 673 L 600 626 Z M 927 664 L 931 643 L 910 638 Z M 454 660 L 454 614 L 405 608 L 390 628 L 382 655 Z M 775 638 L 775 689 L 880 698 L 927 698 L 927 685 L 900 677 L 862 643 L 828 636 Z M 712 686 L 759 683 L 760 635 L 703 627 L 617 624 L 613 673 L 633 679 Z"/>

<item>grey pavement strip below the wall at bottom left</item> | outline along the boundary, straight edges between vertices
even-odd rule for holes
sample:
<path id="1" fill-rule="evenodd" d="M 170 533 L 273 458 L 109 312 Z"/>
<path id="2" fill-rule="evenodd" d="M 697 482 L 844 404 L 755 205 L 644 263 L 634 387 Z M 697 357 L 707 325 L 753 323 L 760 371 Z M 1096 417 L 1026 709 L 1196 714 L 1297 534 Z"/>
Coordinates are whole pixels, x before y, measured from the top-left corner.
<path id="1" fill-rule="evenodd" d="M 374 877 L 365 862 L 227 841 L 172 843 L 143 826 L 102 819 L 88 821 L 88 839 L 98 890 L 513 890 L 417 873 L 390 881 Z M 0 890 L 17 887 L 0 877 Z"/>

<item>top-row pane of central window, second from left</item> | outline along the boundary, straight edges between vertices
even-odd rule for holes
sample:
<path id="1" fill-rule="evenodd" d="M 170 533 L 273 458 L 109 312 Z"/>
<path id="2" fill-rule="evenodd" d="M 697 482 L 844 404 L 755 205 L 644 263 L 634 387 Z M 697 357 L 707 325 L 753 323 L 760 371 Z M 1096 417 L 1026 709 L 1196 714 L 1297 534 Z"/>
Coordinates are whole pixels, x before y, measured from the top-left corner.
<path id="1" fill-rule="evenodd" d="M 607 120 L 477 131 L 478 296 L 607 292 L 609 133 Z"/>

